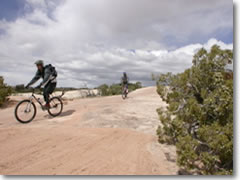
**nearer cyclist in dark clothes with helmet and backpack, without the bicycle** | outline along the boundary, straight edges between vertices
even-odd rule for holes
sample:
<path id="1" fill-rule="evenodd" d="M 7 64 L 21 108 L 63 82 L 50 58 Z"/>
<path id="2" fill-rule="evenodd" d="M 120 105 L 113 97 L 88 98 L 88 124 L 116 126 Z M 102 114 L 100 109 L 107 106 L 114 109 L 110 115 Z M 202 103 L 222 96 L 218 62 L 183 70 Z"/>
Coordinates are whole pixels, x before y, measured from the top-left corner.
<path id="1" fill-rule="evenodd" d="M 57 71 L 55 67 L 53 67 L 51 64 L 44 66 L 43 60 L 38 60 L 35 62 L 37 66 L 37 72 L 36 75 L 33 77 L 33 79 L 27 84 L 26 88 L 37 82 L 40 78 L 43 79 L 43 81 L 36 87 L 41 88 L 43 86 L 43 97 L 46 102 L 44 105 L 44 109 L 49 109 L 49 95 L 53 93 L 57 86 Z"/>

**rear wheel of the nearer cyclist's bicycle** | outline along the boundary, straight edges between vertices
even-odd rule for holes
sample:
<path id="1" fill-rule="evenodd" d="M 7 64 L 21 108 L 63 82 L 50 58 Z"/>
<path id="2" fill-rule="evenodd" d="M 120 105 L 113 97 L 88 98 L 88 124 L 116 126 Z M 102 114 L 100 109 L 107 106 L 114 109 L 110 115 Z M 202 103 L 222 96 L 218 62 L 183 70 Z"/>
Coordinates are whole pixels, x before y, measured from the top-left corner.
<path id="1" fill-rule="evenodd" d="M 50 108 L 48 109 L 48 113 L 53 116 L 59 116 L 63 110 L 63 103 L 59 97 L 53 97 L 50 99 Z"/>

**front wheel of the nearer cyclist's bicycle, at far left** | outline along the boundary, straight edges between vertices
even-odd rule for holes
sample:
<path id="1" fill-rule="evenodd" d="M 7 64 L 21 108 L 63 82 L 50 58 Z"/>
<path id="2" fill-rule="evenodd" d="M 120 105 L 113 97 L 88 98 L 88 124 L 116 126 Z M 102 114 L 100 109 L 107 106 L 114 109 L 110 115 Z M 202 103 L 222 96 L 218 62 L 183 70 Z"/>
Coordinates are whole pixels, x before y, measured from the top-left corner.
<path id="1" fill-rule="evenodd" d="M 30 100 L 19 102 L 15 108 L 15 117 L 20 123 L 30 123 L 36 116 L 37 108 Z"/>

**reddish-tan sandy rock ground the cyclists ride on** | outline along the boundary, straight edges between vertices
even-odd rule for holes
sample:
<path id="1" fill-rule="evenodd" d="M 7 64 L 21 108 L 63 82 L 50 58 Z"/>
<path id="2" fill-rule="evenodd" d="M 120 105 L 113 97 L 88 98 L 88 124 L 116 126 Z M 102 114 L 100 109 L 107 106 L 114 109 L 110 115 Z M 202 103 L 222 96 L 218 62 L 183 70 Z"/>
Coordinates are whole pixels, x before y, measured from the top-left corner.
<path id="1" fill-rule="evenodd" d="M 12 97 L 19 101 L 23 97 Z M 174 146 L 157 142 L 155 87 L 121 96 L 65 102 L 56 118 L 38 108 L 29 124 L 0 109 L 0 174 L 175 175 Z"/>

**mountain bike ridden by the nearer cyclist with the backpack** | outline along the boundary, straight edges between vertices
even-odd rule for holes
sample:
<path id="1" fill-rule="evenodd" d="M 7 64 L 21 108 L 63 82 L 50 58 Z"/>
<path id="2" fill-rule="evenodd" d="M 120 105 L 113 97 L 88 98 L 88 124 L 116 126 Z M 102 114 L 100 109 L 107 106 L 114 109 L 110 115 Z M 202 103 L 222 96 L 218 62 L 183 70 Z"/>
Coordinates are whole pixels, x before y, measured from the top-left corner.
<path id="1" fill-rule="evenodd" d="M 56 117 L 62 113 L 63 95 L 64 91 L 62 91 L 62 94 L 60 96 L 50 95 L 50 108 L 47 109 L 49 115 Z M 15 108 L 15 117 L 20 123 L 30 123 L 35 118 L 37 114 L 37 108 L 34 100 L 36 100 L 38 104 L 40 104 L 43 111 L 45 110 L 40 98 L 37 98 L 35 96 L 35 89 L 33 89 L 32 95 L 28 99 L 20 101 Z"/>

